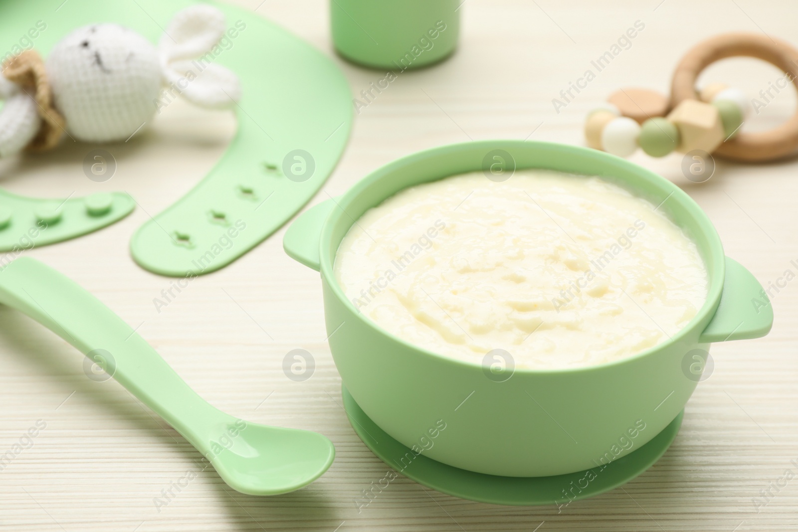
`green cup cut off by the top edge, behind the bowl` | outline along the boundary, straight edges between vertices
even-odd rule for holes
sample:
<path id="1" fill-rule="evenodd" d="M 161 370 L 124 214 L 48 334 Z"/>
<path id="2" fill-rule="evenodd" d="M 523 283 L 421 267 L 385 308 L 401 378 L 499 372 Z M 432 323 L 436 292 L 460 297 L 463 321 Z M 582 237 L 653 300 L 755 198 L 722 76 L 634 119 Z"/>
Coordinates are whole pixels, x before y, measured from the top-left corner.
<path id="1" fill-rule="evenodd" d="M 459 7 L 458 0 L 330 0 L 333 43 L 359 65 L 417 69 L 454 51 Z"/>

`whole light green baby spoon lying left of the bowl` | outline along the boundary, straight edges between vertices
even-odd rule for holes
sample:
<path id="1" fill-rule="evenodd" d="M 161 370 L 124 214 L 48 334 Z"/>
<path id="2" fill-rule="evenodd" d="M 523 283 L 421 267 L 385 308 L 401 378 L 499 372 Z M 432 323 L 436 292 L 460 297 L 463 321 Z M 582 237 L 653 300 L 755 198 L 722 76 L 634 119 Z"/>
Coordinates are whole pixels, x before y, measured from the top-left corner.
<path id="1" fill-rule="evenodd" d="M 113 311 L 33 258 L 18 258 L 0 270 L 0 303 L 80 349 L 167 420 L 237 491 L 298 490 L 333 462 L 335 447 L 323 435 L 248 423 L 212 407 Z"/>

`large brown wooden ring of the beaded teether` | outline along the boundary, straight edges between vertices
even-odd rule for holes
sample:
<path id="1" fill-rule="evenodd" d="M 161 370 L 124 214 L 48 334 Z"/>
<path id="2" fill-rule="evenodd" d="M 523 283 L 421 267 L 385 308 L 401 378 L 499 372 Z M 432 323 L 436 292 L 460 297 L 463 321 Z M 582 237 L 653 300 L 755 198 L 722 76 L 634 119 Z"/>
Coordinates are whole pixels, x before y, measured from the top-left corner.
<path id="1" fill-rule="evenodd" d="M 703 69 L 726 57 L 757 57 L 787 73 L 798 89 L 798 50 L 780 39 L 755 33 L 725 33 L 690 49 L 674 71 L 671 107 L 681 100 L 698 100 L 696 80 Z M 798 152 L 798 111 L 778 128 L 766 132 L 739 132 L 718 146 L 715 154 L 741 161 L 763 161 Z"/>

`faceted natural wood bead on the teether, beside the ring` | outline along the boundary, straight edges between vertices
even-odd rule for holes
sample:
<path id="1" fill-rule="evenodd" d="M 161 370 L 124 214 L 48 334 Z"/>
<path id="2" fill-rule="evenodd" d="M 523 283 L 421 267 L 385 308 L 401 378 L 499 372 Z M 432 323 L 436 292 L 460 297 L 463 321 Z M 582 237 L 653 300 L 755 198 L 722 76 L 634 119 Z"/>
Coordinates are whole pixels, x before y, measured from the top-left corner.
<path id="1" fill-rule="evenodd" d="M 683 100 L 668 115 L 679 130 L 679 152 L 703 150 L 712 153 L 725 136 L 721 114 L 710 104 L 698 100 Z"/>

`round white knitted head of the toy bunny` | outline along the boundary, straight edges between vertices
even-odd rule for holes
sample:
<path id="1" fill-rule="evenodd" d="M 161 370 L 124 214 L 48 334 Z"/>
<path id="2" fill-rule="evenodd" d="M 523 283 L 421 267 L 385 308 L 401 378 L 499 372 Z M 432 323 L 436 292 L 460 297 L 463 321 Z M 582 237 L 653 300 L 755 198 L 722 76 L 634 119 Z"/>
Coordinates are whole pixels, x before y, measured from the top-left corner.
<path id="1" fill-rule="evenodd" d="M 50 52 L 45 68 L 56 108 L 77 140 L 125 140 L 156 111 L 156 47 L 116 24 L 85 26 Z"/>

